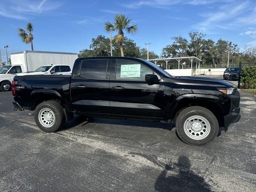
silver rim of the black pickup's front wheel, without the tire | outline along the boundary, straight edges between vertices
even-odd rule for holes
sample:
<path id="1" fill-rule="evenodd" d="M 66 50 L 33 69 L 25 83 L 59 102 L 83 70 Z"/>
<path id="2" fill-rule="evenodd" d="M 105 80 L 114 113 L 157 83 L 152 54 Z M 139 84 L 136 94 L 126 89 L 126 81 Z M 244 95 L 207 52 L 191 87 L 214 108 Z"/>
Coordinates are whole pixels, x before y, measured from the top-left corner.
<path id="1" fill-rule="evenodd" d="M 210 122 L 200 115 L 194 115 L 186 119 L 184 123 L 185 134 L 194 140 L 202 140 L 210 134 Z"/>

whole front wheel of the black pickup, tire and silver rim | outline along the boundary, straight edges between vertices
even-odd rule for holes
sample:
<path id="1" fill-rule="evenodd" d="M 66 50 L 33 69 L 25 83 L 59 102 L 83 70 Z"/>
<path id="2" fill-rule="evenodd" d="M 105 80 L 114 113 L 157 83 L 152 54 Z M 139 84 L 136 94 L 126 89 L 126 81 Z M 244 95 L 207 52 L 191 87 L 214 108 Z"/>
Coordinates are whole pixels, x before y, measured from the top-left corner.
<path id="1" fill-rule="evenodd" d="M 214 114 L 200 106 L 185 108 L 176 119 L 176 132 L 187 144 L 203 146 L 216 138 L 218 120 Z"/>

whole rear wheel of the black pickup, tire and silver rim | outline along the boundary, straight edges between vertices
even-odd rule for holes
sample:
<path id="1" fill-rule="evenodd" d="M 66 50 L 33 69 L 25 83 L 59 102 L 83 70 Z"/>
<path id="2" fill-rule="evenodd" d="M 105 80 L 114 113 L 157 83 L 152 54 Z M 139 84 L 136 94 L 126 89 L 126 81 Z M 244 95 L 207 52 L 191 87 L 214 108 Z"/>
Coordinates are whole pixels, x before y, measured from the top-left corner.
<path id="1" fill-rule="evenodd" d="M 62 106 L 56 101 L 40 103 L 34 112 L 37 126 L 44 132 L 55 132 L 64 122 L 65 115 Z"/>

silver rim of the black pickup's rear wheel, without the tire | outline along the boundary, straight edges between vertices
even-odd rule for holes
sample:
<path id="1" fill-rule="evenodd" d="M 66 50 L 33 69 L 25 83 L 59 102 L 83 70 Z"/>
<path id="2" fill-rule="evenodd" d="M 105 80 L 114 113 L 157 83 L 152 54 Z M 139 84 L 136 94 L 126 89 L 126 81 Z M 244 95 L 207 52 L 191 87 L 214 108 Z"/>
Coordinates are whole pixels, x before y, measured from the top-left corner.
<path id="1" fill-rule="evenodd" d="M 52 127 L 55 122 L 55 115 L 49 108 L 43 108 L 38 114 L 39 122 L 44 127 Z"/>

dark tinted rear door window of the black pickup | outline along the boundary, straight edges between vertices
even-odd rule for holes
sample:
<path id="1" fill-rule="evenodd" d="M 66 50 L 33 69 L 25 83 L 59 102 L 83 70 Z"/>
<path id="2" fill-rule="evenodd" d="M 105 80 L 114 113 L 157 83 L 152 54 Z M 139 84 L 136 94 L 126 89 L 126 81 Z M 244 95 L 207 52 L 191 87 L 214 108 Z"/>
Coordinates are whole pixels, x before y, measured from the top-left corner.
<path id="1" fill-rule="evenodd" d="M 108 60 L 85 60 L 82 62 L 80 76 L 92 79 L 106 79 Z"/>

